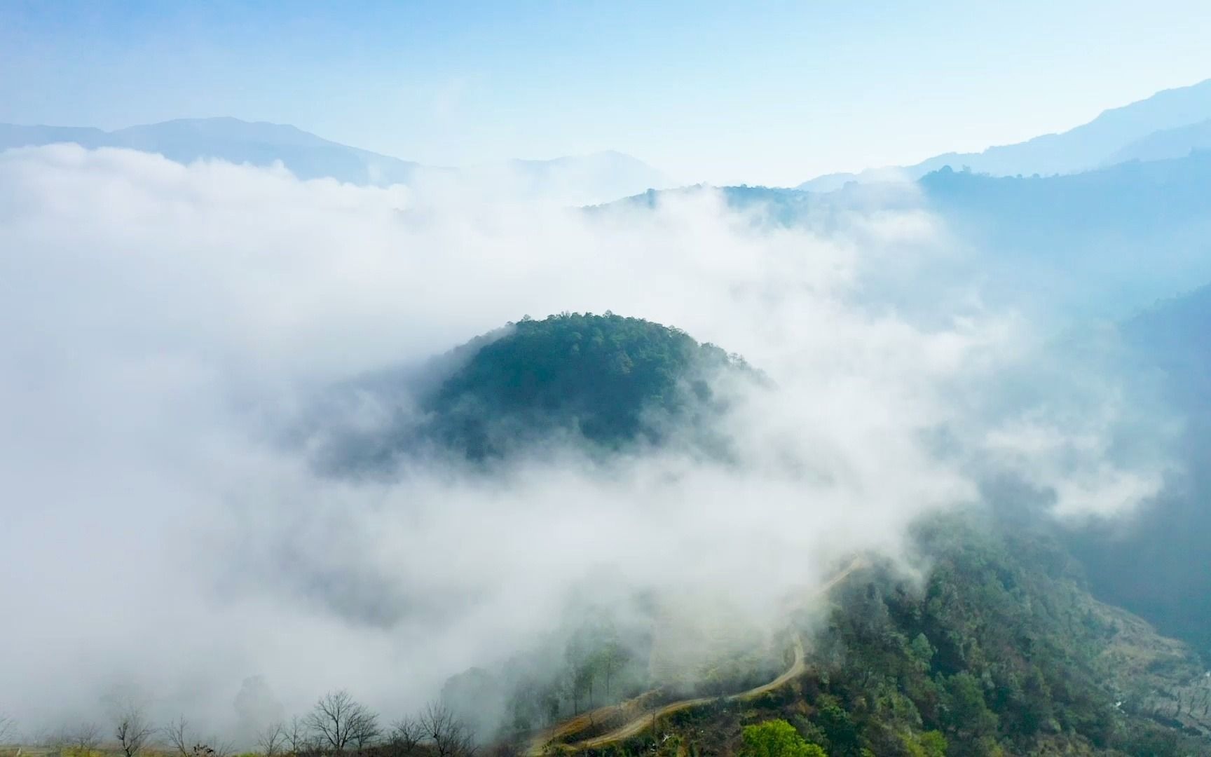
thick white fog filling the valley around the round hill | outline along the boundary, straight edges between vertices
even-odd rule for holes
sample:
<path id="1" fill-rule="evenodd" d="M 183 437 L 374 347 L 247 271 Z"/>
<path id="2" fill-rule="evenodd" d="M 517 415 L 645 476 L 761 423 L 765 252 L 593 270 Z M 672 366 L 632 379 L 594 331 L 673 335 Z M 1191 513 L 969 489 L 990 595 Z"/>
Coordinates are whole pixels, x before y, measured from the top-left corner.
<path id="1" fill-rule="evenodd" d="M 626 625 L 637 596 L 773 637 L 788 595 L 901 556 L 914 518 L 988 480 L 1083 517 L 1170 472 L 1147 386 L 1052 349 L 1064 325 L 968 283 L 912 309 L 873 294 L 964 254 L 911 203 L 788 229 L 710 189 L 596 213 L 471 196 L 0 154 L 0 706 L 27 730 L 126 687 L 230 732 L 253 676 L 285 712 L 348 687 L 396 717 L 578 607 Z M 547 448 L 362 480 L 317 472 L 322 440 L 282 442 L 334 384 L 606 310 L 770 377 L 733 388 L 731 464 Z"/>

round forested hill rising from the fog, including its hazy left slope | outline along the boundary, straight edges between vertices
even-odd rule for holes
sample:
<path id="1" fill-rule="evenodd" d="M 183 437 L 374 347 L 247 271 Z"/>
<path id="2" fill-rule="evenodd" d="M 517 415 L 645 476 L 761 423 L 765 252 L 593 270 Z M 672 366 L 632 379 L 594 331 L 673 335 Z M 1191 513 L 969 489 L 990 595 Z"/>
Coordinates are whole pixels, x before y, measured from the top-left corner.
<path id="1" fill-rule="evenodd" d="M 728 380 L 763 380 L 741 357 L 678 328 L 613 312 L 527 316 L 423 373 L 357 388 L 384 405 L 406 396 L 409 407 L 386 430 L 343 436 L 338 469 L 435 449 L 483 461 L 543 445 L 596 454 L 676 437 L 718 447 L 711 426 L 728 409 Z"/>

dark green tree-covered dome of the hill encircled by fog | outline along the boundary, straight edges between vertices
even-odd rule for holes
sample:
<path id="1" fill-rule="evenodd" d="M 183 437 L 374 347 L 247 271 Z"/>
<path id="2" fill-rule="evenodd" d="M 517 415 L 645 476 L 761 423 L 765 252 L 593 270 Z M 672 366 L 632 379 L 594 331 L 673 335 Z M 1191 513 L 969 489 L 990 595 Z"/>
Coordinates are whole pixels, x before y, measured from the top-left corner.
<path id="1" fill-rule="evenodd" d="M 431 432 L 471 458 L 574 432 L 609 448 L 659 443 L 721 408 L 712 379 L 744 362 L 685 332 L 607 312 L 523 319 L 474 354 L 424 408 Z"/>

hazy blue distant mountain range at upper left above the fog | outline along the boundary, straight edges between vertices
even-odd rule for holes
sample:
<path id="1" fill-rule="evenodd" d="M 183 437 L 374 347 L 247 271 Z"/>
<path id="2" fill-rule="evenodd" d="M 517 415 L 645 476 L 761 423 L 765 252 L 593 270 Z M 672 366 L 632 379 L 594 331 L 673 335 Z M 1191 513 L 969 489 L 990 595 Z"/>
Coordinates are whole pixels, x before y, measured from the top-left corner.
<path id="1" fill-rule="evenodd" d="M 294 126 L 233 117 L 178 119 L 116 131 L 0 124 L 0 150 L 61 142 L 74 142 L 90 149 L 127 148 L 157 153 L 182 164 L 225 160 L 270 166 L 280 161 L 300 179 L 332 178 L 362 187 L 475 182 L 510 196 L 575 205 L 675 185 L 656 168 L 613 150 L 553 160 L 511 160 L 467 168 L 442 168 L 352 148 Z"/>

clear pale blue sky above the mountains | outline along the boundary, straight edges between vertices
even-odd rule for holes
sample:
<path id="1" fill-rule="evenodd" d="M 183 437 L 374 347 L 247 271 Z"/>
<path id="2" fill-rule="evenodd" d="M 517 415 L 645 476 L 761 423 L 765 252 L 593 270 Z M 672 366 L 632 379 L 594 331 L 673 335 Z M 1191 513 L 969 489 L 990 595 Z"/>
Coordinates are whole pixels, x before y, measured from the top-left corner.
<path id="1" fill-rule="evenodd" d="M 1205 0 L 0 0 L 0 121 L 233 115 L 438 165 L 618 149 L 793 184 L 1211 78 Z"/>

